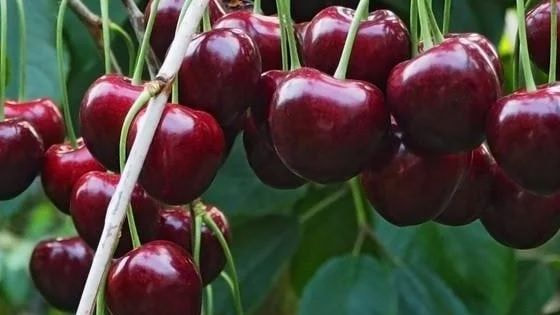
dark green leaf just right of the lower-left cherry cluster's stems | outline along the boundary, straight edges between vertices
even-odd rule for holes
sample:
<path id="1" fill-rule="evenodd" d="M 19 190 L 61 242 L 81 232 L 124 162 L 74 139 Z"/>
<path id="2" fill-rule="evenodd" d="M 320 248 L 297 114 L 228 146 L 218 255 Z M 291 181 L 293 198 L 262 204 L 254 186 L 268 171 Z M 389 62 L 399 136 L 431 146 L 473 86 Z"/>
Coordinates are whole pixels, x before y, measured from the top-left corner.
<path id="1" fill-rule="evenodd" d="M 295 252 L 299 225 L 293 217 L 266 216 L 234 225 L 232 234 L 243 305 L 249 314 L 272 290 L 282 267 Z M 234 314 L 223 281 L 216 281 L 215 290 L 216 314 Z"/>

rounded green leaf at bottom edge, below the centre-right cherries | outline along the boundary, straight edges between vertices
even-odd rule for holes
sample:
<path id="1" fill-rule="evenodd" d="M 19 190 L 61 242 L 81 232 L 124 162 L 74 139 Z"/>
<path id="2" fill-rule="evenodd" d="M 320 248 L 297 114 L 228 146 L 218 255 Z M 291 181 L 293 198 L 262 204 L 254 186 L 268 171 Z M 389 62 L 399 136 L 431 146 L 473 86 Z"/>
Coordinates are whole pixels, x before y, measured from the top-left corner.
<path id="1" fill-rule="evenodd" d="M 369 256 L 333 258 L 305 287 L 298 314 L 397 314 L 391 270 Z"/>

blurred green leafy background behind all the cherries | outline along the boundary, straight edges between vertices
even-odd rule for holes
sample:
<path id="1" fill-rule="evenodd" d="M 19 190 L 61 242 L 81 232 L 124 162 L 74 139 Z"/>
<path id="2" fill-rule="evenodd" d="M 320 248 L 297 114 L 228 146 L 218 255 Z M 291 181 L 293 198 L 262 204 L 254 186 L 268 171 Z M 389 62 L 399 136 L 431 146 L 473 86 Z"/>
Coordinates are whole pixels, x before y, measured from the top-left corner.
<path id="1" fill-rule="evenodd" d="M 24 2 L 27 96 L 58 100 L 58 1 Z M 438 16 L 442 2 L 434 0 Z M 85 3 L 98 11 L 98 1 Z M 408 20 L 408 0 L 375 3 Z M 455 0 L 451 20 L 454 31 L 480 32 L 500 44 L 506 72 L 511 70 L 512 45 L 503 35 L 511 5 L 506 0 Z M 14 1 L 9 1 L 9 10 L 8 93 L 15 97 L 19 35 Z M 111 1 L 111 17 L 130 30 L 120 1 Z M 74 116 L 84 91 L 102 74 L 101 55 L 88 35 L 68 12 L 64 36 Z M 114 48 L 126 68 L 124 45 L 116 39 Z M 269 189 L 252 174 L 239 141 L 205 200 L 233 223 L 243 301 L 252 314 L 560 314 L 558 239 L 537 250 L 514 251 L 493 241 L 479 223 L 396 228 L 372 212 L 377 238 L 396 267 L 379 258 L 380 247 L 372 242 L 354 259 L 349 254 L 357 228 L 346 187 Z M 321 205 L 322 211 L 306 217 Z M 73 234 L 70 219 L 54 209 L 37 183 L 17 199 L 0 203 L 0 314 L 59 314 L 33 288 L 27 264 L 39 240 Z M 224 283 L 217 280 L 215 288 L 216 314 L 233 314 Z"/>

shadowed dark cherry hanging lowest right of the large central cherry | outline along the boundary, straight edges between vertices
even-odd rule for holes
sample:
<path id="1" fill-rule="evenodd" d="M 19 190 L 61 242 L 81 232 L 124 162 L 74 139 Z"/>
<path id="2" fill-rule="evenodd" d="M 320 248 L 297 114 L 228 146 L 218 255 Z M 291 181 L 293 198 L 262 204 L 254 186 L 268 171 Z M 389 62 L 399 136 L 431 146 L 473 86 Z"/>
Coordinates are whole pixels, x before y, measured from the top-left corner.
<path id="1" fill-rule="evenodd" d="M 446 209 L 470 159 L 471 153 L 418 155 L 402 143 L 397 131 L 385 138 L 383 150 L 370 160 L 361 182 L 383 218 L 398 226 L 417 225 Z"/>

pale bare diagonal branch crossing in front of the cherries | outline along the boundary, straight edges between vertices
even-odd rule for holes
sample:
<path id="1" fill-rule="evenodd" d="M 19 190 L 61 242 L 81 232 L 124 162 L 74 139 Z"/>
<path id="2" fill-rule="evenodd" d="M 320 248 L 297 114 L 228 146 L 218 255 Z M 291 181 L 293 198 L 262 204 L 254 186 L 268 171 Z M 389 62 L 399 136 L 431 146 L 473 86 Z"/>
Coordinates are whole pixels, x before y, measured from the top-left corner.
<path id="1" fill-rule="evenodd" d="M 169 89 L 177 75 L 187 47 L 195 34 L 202 15 L 208 6 L 208 0 L 193 0 L 185 18 L 179 25 L 175 38 L 156 80 L 145 85 L 144 93 L 157 94 L 148 104 L 145 120 L 139 128 L 136 141 L 132 145 L 128 162 L 121 174 L 119 183 L 107 207 L 103 233 L 93 258 L 93 263 L 76 312 L 77 315 L 91 315 L 94 310 L 95 297 L 101 285 L 103 275 L 107 272 L 120 230 L 125 219 L 126 209 L 146 154 L 154 137 L 163 109 L 169 97 Z"/>

